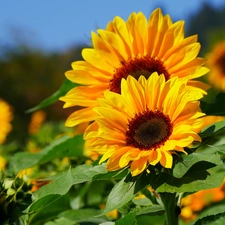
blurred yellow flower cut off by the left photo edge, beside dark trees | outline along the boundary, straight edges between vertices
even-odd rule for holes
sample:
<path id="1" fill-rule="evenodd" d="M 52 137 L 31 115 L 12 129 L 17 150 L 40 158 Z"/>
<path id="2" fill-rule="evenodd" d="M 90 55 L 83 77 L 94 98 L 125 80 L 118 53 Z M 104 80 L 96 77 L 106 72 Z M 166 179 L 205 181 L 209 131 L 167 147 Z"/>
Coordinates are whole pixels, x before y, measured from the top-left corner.
<path id="1" fill-rule="evenodd" d="M 8 133 L 12 130 L 12 108 L 8 103 L 0 99 L 0 144 L 6 140 Z"/>

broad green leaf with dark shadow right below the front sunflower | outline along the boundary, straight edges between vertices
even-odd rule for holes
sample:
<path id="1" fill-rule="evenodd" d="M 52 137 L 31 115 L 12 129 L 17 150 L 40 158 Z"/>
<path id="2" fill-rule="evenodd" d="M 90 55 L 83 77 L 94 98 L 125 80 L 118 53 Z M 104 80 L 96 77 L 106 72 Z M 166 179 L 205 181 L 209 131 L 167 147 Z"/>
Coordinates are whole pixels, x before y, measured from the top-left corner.
<path id="1" fill-rule="evenodd" d="M 202 157 L 205 157 L 204 154 Z M 194 157 L 194 164 L 190 161 L 191 158 L 192 154 L 185 156 L 184 161 L 175 165 L 174 172 L 170 170 L 159 174 L 151 172 L 148 175 L 150 185 L 157 192 L 181 193 L 215 188 L 222 184 L 225 171 L 218 154 L 203 161 L 201 158 L 198 161 L 198 157 Z"/>

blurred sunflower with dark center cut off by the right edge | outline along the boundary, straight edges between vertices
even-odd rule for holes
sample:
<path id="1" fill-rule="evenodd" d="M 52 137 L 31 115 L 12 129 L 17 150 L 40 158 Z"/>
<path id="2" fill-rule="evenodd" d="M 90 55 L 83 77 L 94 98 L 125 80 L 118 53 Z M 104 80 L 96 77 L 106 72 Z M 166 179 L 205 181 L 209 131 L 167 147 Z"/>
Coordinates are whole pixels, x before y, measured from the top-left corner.
<path id="1" fill-rule="evenodd" d="M 215 45 L 207 56 L 210 73 L 208 80 L 214 87 L 225 92 L 225 41 Z"/>

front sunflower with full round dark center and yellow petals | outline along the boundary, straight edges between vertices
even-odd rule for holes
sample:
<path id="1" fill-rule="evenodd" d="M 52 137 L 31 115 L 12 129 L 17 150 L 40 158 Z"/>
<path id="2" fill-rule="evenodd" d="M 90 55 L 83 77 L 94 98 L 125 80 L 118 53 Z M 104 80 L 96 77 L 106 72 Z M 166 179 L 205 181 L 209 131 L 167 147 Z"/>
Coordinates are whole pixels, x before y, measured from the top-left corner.
<path id="1" fill-rule="evenodd" d="M 130 166 L 136 176 L 148 165 L 171 168 L 172 154 L 201 141 L 196 130 L 201 93 L 190 91 L 177 77 L 166 81 L 154 72 L 148 79 L 122 79 L 121 94 L 105 91 L 98 100 L 95 122 L 85 131 L 91 151 L 107 160 L 109 171 Z"/>

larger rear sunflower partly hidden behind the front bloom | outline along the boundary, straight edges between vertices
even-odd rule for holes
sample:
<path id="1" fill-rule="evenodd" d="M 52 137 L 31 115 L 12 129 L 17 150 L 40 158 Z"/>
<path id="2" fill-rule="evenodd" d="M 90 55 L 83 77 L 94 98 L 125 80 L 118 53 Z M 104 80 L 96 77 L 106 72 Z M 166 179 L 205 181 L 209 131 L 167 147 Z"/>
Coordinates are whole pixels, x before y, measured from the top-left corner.
<path id="1" fill-rule="evenodd" d="M 153 72 L 168 80 L 188 80 L 191 89 L 205 93 L 206 85 L 194 80 L 208 72 L 204 60 L 197 57 L 200 44 L 197 35 L 184 37 L 184 21 L 173 23 L 169 15 L 156 9 L 147 19 L 143 13 L 132 13 L 127 21 L 116 16 L 106 29 L 92 32 L 93 48 L 82 51 L 83 61 L 72 63 L 66 77 L 81 86 L 61 97 L 64 108 L 80 106 L 66 126 L 93 120 L 91 110 L 105 90 L 121 92 L 121 80 L 132 75 L 148 78 Z"/>

